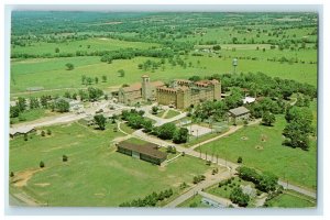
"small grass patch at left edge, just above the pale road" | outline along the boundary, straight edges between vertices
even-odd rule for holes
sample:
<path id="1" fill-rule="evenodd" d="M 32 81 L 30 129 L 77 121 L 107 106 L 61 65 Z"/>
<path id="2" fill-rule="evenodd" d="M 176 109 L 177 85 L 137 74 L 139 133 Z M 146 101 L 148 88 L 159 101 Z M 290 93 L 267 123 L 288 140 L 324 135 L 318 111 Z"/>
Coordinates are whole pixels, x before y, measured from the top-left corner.
<path id="1" fill-rule="evenodd" d="M 18 118 L 11 118 L 10 121 L 13 124 L 15 124 L 15 123 L 20 123 L 20 122 L 33 121 L 36 119 L 41 119 L 44 117 L 52 117 L 52 116 L 56 116 L 56 114 L 59 114 L 59 113 L 52 112 L 52 111 L 45 110 L 45 109 L 31 109 L 31 110 L 24 111 Z"/>

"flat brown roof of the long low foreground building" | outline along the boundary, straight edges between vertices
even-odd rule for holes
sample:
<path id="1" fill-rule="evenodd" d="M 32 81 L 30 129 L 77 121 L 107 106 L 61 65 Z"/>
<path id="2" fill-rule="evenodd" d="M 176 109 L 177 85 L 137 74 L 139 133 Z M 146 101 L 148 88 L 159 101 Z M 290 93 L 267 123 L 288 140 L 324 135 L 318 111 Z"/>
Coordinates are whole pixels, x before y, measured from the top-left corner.
<path id="1" fill-rule="evenodd" d="M 164 152 L 158 151 L 156 147 L 158 145 L 153 144 L 153 143 L 146 143 L 146 144 L 133 144 L 128 141 L 119 142 L 117 144 L 118 146 L 122 148 L 127 148 L 130 151 L 139 152 L 155 158 L 166 158 L 167 154 Z"/>

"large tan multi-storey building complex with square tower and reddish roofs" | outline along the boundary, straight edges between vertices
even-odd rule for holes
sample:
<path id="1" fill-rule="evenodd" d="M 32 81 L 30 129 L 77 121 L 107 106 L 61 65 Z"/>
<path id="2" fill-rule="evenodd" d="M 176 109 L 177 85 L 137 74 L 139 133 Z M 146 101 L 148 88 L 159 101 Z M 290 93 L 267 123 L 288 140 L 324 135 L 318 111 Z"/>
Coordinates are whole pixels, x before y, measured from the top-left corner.
<path id="1" fill-rule="evenodd" d="M 147 75 L 142 76 L 141 84 L 123 87 L 119 90 L 119 101 L 134 105 L 142 100 L 157 101 L 160 105 L 185 109 L 206 100 L 221 99 L 221 84 L 213 80 L 190 81 L 175 79 L 169 86 L 162 81 L 150 81 Z"/>

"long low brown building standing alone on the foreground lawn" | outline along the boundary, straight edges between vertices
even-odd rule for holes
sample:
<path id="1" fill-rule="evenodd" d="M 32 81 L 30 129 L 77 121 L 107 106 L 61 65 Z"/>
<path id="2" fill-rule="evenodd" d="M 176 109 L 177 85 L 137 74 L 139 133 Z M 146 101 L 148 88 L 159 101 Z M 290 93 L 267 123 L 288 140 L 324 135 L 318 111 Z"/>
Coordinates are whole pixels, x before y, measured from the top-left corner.
<path id="1" fill-rule="evenodd" d="M 129 141 L 119 142 L 116 144 L 117 151 L 134 158 L 140 158 L 153 164 L 161 165 L 166 158 L 167 154 L 157 150 L 158 145 L 153 143 L 133 144 Z"/>

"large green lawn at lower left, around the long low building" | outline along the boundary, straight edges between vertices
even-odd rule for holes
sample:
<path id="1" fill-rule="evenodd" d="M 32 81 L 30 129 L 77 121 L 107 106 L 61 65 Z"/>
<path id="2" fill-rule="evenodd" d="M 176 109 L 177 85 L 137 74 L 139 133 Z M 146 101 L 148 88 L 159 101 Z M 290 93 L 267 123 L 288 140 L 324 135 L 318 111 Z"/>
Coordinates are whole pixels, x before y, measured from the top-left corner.
<path id="1" fill-rule="evenodd" d="M 10 170 L 18 178 L 26 178 L 25 185 L 12 183 L 11 188 L 50 206 L 118 206 L 152 191 L 177 189 L 209 169 L 189 156 L 160 167 L 118 153 L 111 142 L 121 133 L 113 132 L 112 127 L 98 131 L 73 123 L 50 127 L 52 136 L 11 140 Z M 62 162 L 63 154 L 68 162 Z M 40 161 L 45 168 L 38 168 Z"/>

